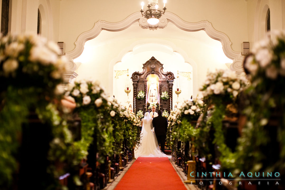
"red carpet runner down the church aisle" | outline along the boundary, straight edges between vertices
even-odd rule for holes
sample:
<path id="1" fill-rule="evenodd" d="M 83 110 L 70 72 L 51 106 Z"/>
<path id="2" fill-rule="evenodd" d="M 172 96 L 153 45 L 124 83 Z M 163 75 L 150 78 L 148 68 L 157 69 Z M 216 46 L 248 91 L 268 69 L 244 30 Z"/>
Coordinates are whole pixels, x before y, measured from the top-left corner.
<path id="1" fill-rule="evenodd" d="M 139 157 L 125 173 L 115 190 L 185 189 L 168 158 Z"/>

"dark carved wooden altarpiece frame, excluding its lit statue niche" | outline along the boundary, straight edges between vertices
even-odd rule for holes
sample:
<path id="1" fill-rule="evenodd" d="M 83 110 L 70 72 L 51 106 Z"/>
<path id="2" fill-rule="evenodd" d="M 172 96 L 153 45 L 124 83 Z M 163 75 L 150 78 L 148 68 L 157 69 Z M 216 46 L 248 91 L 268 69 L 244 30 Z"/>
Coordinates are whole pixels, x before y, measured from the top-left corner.
<path id="1" fill-rule="evenodd" d="M 161 96 L 162 92 L 167 91 L 169 97 L 171 97 L 171 100 L 173 101 L 172 97 L 172 87 L 173 87 L 173 80 L 174 75 L 172 72 L 163 72 L 163 64 L 161 64 L 158 60 L 156 60 L 154 57 L 152 57 L 150 60 L 145 62 L 143 64 L 143 72 L 134 72 L 132 74 L 131 79 L 133 80 L 133 97 L 136 98 L 135 108 L 136 112 L 139 110 L 146 111 L 146 94 L 147 94 L 147 77 L 151 74 L 155 74 L 158 76 L 158 91 L 159 91 L 159 97 Z M 144 91 L 145 96 L 143 100 L 137 100 L 137 93 L 139 91 Z M 172 104 L 172 103 L 171 103 Z M 134 107 L 134 105 L 133 105 Z M 156 108 L 156 111 L 158 110 L 158 106 Z M 164 101 L 160 99 L 160 109 L 163 111 L 166 109 L 169 113 L 170 111 L 170 99 Z M 147 110 L 150 111 L 151 109 Z"/>

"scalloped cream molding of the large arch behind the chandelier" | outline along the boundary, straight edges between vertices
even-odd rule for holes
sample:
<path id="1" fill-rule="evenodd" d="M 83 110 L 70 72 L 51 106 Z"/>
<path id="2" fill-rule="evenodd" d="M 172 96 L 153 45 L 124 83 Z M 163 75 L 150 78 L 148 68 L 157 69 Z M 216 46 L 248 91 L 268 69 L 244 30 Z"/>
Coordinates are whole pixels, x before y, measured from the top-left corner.
<path id="1" fill-rule="evenodd" d="M 102 30 L 107 30 L 112 32 L 121 31 L 125 30 L 135 22 L 139 22 L 139 25 L 142 28 L 150 28 L 150 30 L 154 30 L 157 28 L 165 28 L 168 22 L 175 24 L 181 30 L 189 32 L 204 30 L 209 37 L 215 40 L 219 40 L 221 42 L 225 55 L 233 60 L 233 64 L 231 64 L 230 68 L 232 70 L 235 70 L 237 73 L 243 72 L 244 56 L 241 55 L 241 52 L 233 51 L 231 48 L 231 41 L 229 40 L 229 37 L 226 34 L 215 30 L 210 22 L 200 21 L 198 23 L 189 23 L 183 21 L 182 19 L 180 19 L 180 17 L 178 17 L 173 13 L 166 12 L 164 16 L 160 17 L 158 24 L 150 25 L 146 22 L 146 19 L 142 17 L 140 11 L 133 13 L 125 20 L 120 21 L 118 23 L 98 21 L 94 24 L 91 30 L 80 34 L 75 42 L 76 46 L 74 50 L 66 52 L 66 56 L 69 60 L 69 66 L 67 69 L 70 71 L 76 70 L 76 64 L 73 62 L 73 60 L 82 54 L 84 50 L 84 44 L 87 40 L 91 40 L 97 37 Z"/>

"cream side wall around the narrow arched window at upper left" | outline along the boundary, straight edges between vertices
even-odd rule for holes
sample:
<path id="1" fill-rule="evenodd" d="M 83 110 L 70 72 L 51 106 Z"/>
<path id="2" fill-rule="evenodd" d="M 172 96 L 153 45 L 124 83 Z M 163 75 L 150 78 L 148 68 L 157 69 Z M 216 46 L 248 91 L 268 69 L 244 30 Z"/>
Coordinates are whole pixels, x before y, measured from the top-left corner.
<path id="1" fill-rule="evenodd" d="M 12 0 L 11 34 L 37 33 L 38 8 L 44 19 L 42 36 L 58 42 L 60 25 L 60 1 L 58 0 Z"/>

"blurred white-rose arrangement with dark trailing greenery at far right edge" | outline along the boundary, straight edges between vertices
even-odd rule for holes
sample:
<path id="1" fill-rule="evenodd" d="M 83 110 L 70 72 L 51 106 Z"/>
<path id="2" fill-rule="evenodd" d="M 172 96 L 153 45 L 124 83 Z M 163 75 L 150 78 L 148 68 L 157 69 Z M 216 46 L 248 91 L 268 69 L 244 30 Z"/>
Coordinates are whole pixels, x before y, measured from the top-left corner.
<path id="1" fill-rule="evenodd" d="M 237 153 L 230 159 L 239 171 L 278 171 L 282 178 L 285 176 L 285 34 L 271 35 L 271 41 L 255 44 L 245 58 L 244 67 L 251 80 L 244 109 L 247 122 Z"/>

